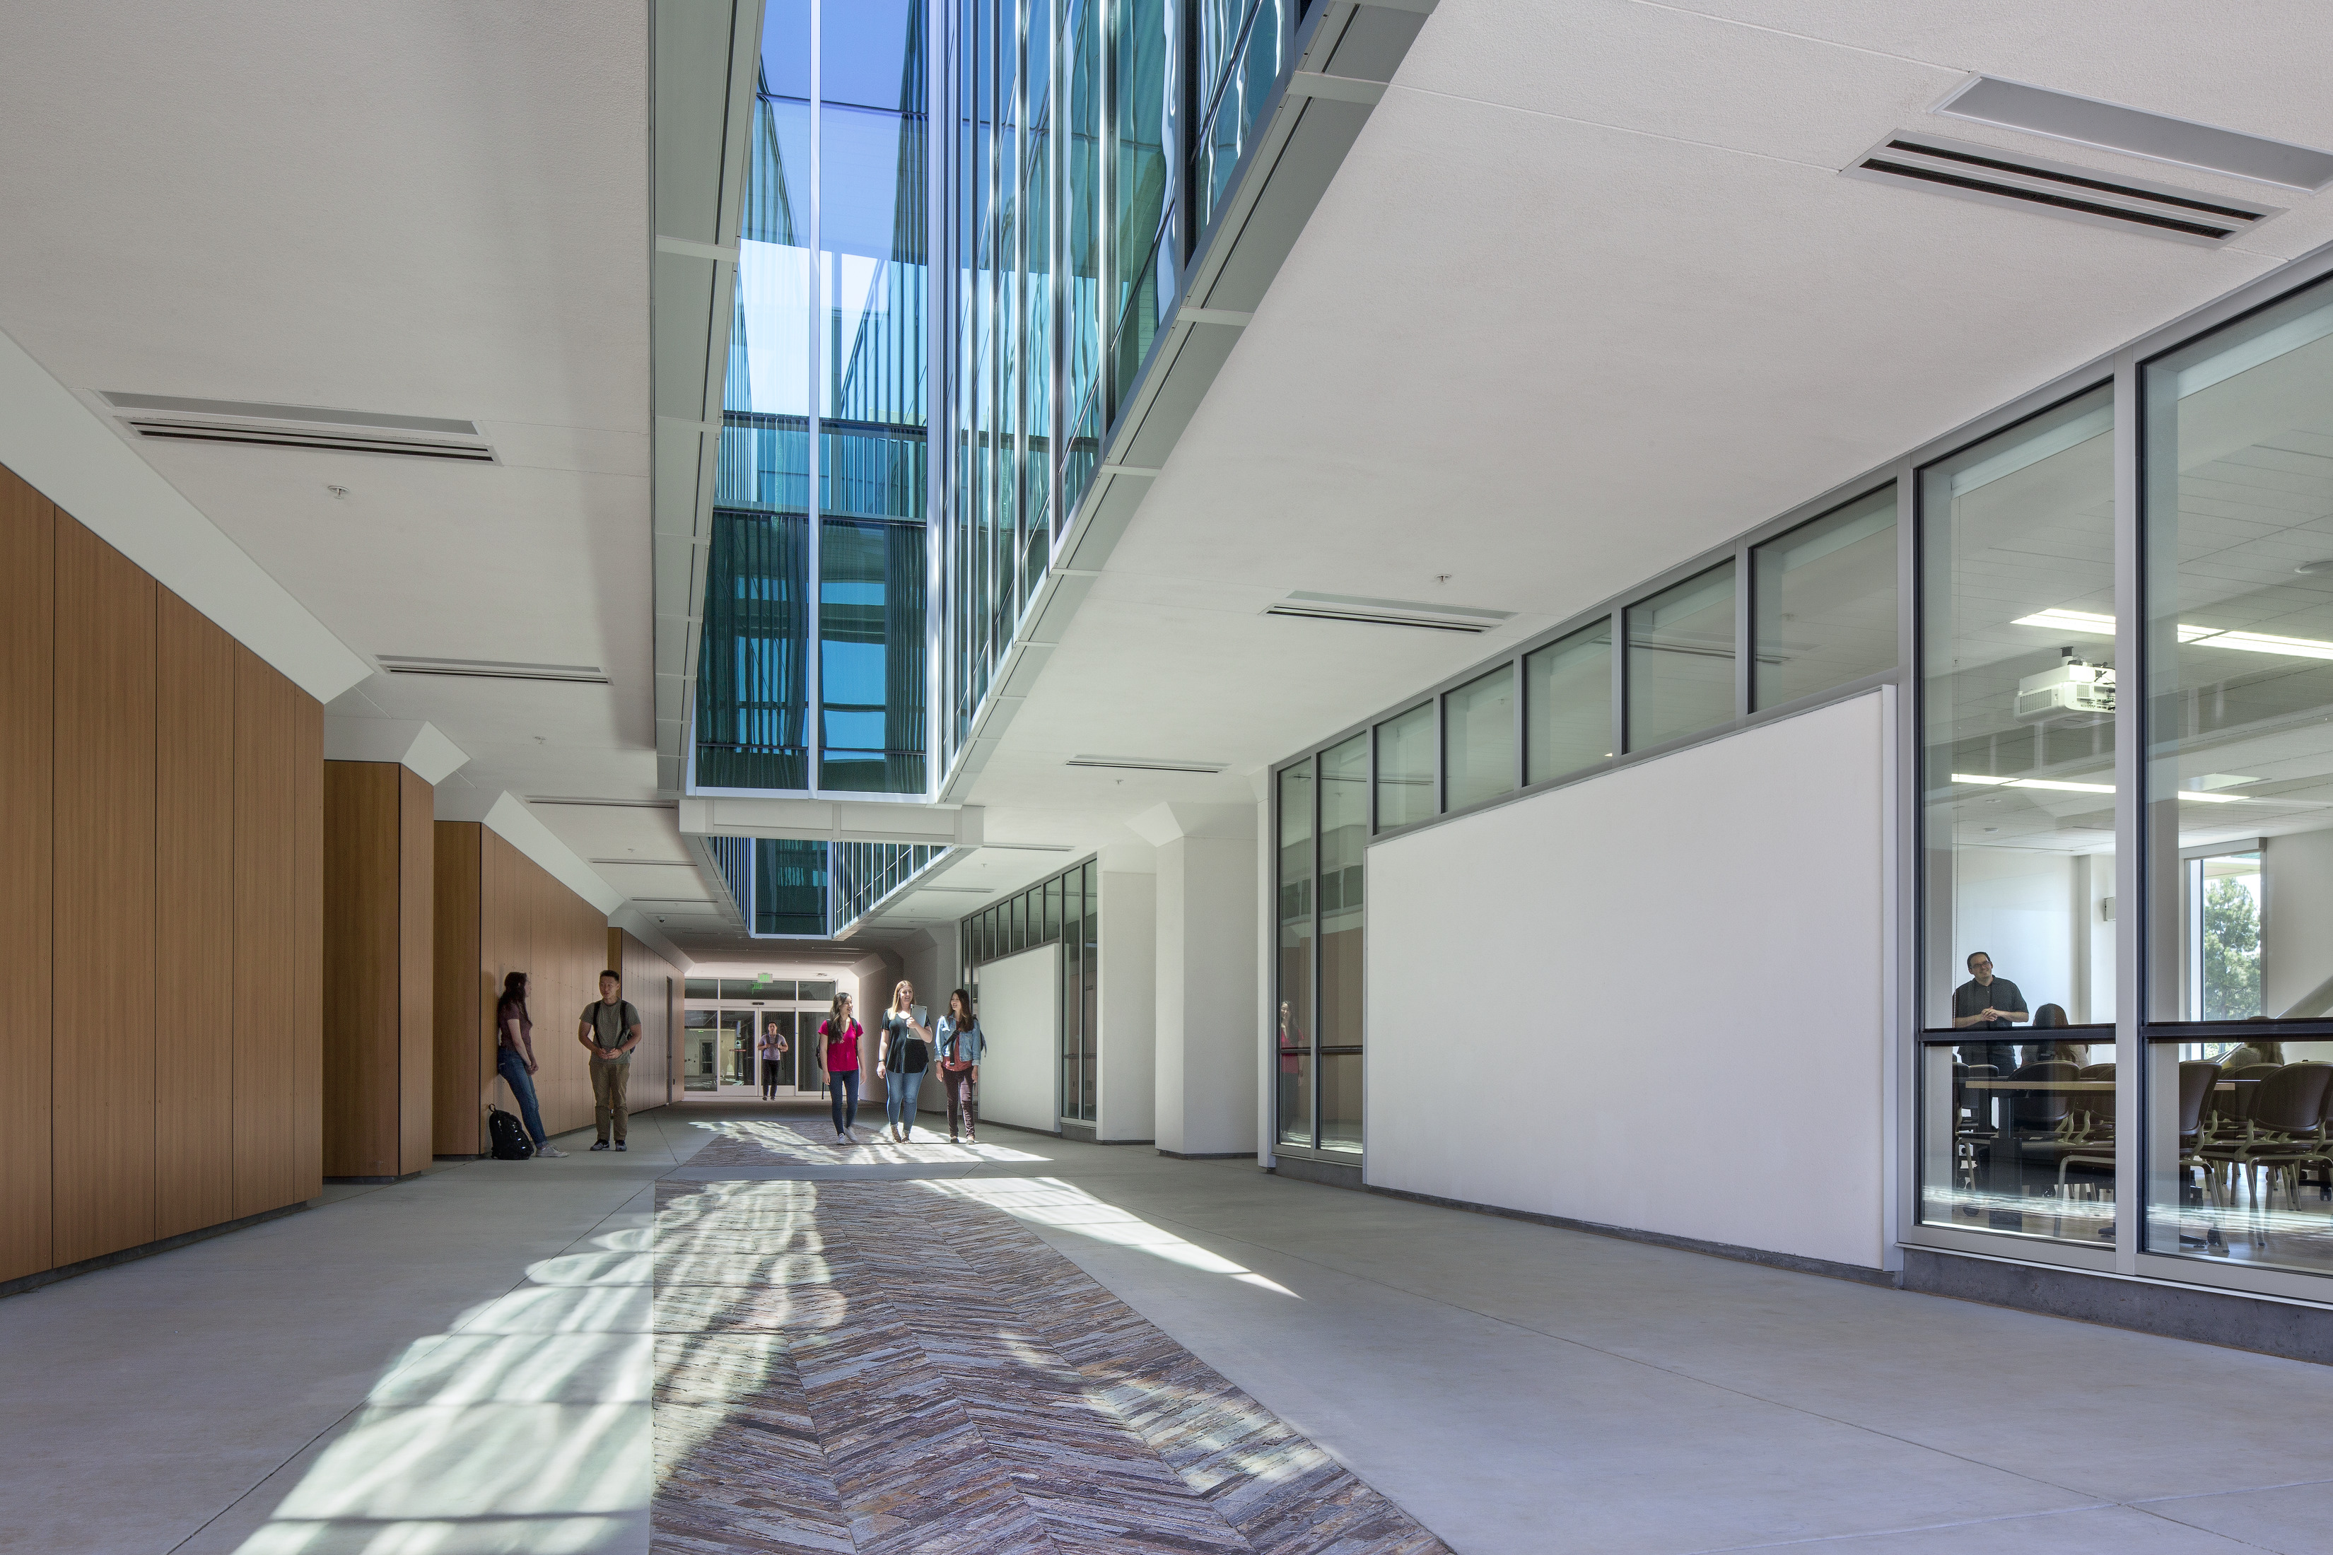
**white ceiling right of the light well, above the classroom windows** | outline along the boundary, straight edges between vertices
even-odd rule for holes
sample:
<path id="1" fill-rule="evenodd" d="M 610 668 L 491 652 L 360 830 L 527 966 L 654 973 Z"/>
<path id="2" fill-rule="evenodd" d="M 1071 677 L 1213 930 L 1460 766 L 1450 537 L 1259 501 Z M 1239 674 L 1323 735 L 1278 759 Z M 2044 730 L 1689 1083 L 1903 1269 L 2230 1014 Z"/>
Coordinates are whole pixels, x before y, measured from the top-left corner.
<path id="1" fill-rule="evenodd" d="M 1267 762 L 2333 238 L 2333 196 L 1929 114 L 1969 72 L 2333 147 L 2328 68 L 2305 0 L 1442 0 L 980 774 L 989 835 L 1099 846 L 1160 800 L 1253 797 Z M 1899 128 L 2291 210 L 2205 249 L 1838 175 Z M 1262 618 L 1288 590 L 1516 615 Z"/>

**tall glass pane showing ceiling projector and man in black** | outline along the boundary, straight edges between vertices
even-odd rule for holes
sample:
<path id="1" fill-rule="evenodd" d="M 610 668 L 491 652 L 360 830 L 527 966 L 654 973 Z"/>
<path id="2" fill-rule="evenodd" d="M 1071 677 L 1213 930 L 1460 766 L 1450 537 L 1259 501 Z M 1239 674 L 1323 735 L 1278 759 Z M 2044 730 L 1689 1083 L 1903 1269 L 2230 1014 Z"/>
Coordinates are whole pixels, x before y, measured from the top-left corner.
<path id="1" fill-rule="evenodd" d="M 1920 471 L 1920 1217 L 2114 1238 L 2114 394 Z"/>

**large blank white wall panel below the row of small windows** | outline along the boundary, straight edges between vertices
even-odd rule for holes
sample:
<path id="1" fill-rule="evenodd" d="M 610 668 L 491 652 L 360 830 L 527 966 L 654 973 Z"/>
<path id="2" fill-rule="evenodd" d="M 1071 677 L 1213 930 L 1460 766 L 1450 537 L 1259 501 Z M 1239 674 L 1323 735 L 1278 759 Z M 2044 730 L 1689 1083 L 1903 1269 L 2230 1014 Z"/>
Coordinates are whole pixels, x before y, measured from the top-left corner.
<path id="1" fill-rule="evenodd" d="M 1873 692 L 1376 844 L 1367 1180 L 1878 1268 L 1890 739 Z M 1453 968 L 1507 1000 L 1453 1028 Z"/>

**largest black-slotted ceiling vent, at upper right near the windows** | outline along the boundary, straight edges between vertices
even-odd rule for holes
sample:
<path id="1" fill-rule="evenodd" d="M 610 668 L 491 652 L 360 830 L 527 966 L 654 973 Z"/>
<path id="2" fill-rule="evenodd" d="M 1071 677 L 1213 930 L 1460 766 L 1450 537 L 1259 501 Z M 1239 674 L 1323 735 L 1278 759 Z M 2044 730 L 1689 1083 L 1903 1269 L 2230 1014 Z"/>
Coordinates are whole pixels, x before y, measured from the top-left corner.
<path id="1" fill-rule="evenodd" d="M 1890 135 L 1843 173 L 2200 245 L 2226 242 L 2282 210 L 1908 131 Z"/>

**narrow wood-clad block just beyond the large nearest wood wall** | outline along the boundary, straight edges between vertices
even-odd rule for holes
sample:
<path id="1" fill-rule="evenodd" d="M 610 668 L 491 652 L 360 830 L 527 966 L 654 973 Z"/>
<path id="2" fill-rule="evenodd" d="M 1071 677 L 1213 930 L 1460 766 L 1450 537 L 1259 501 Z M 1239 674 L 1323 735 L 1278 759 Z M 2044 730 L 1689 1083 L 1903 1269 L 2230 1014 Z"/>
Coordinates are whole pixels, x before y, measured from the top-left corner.
<path id="1" fill-rule="evenodd" d="M 432 788 L 399 762 L 324 762 L 324 1175 L 429 1166 Z"/>

